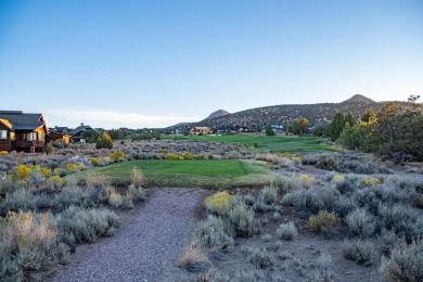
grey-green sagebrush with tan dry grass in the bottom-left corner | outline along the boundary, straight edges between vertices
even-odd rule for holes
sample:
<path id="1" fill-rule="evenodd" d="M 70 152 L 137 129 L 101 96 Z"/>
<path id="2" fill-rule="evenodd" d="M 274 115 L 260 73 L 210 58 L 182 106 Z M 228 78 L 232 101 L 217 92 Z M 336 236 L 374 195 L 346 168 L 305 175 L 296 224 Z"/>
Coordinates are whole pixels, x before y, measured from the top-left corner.
<path id="1" fill-rule="evenodd" d="M 44 281 L 68 258 L 48 214 L 13 213 L 0 218 L 0 280 Z"/>

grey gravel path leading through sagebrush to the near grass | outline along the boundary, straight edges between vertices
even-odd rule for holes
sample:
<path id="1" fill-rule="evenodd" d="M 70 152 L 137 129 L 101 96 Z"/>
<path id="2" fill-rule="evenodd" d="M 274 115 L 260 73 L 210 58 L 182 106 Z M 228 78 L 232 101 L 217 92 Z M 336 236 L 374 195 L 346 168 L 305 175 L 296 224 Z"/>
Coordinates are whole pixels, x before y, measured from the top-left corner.
<path id="1" fill-rule="evenodd" d="M 156 190 L 115 236 L 100 240 L 86 259 L 72 264 L 52 281 L 158 281 L 164 266 L 180 249 L 206 193 Z"/>

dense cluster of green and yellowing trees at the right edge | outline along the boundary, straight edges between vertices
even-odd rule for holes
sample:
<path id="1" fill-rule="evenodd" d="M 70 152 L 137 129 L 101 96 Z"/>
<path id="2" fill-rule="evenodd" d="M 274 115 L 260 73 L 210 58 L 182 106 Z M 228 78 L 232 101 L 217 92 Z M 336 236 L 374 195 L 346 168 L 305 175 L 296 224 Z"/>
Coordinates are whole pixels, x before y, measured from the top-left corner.
<path id="1" fill-rule="evenodd" d="M 336 113 L 325 130 L 315 134 L 325 134 L 332 141 L 349 150 L 375 153 L 395 164 L 406 161 L 423 161 L 423 105 L 416 103 L 420 97 L 409 98 L 410 106 L 389 102 L 375 113 L 367 110 L 359 120 L 351 113 Z"/>

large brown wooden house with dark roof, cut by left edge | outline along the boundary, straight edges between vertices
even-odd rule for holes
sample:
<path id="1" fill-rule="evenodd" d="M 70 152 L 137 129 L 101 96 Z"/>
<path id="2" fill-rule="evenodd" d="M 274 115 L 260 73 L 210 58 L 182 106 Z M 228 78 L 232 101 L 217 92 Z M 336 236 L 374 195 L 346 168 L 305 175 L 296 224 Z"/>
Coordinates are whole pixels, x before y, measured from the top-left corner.
<path id="1" fill-rule="evenodd" d="M 0 151 L 42 152 L 48 130 L 41 114 L 0 111 Z"/>

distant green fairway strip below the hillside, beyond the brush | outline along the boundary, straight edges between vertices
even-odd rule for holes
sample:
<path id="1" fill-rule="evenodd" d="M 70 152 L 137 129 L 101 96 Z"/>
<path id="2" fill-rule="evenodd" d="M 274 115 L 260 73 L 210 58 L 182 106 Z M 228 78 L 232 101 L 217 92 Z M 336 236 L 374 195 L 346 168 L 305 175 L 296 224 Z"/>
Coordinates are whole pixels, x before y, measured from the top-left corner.
<path id="1" fill-rule="evenodd" d="M 313 137 L 280 137 L 260 136 L 253 133 L 222 134 L 222 136 L 181 136 L 178 140 L 215 141 L 239 143 L 257 152 L 295 153 L 311 151 L 333 151 L 323 139 Z M 255 144 L 257 148 L 255 148 Z"/>

